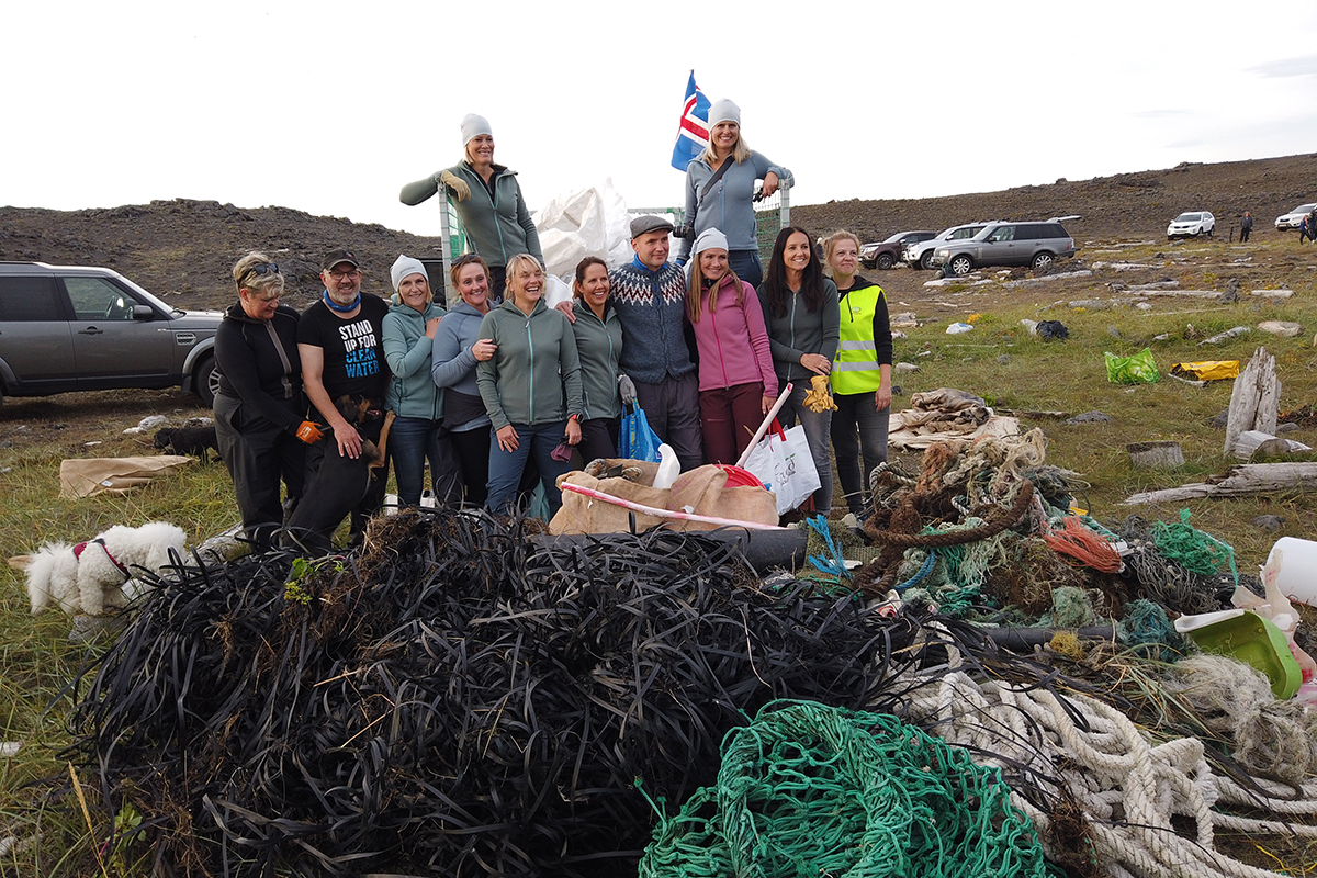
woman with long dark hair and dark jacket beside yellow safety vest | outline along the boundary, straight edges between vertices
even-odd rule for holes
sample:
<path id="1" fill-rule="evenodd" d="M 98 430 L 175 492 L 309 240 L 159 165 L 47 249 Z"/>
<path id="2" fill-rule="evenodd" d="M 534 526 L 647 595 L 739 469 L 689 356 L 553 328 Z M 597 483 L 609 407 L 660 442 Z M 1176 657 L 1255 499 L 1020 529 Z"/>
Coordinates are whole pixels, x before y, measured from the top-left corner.
<path id="1" fill-rule="evenodd" d="M 777 380 L 794 384 L 777 417 L 784 426 L 792 426 L 799 419 L 805 428 L 814 469 L 819 474 L 814 511 L 827 515 L 832 508 L 832 412 L 810 411 L 805 396 L 810 391 L 810 379 L 832 371 L 842 312 L 836 284 L 823 276 L 809 232 L 788 226 L 777 234 L 773 255 L 768 261 L 768 278 L 759 287 L 759 300 L 764 305 Z"/>

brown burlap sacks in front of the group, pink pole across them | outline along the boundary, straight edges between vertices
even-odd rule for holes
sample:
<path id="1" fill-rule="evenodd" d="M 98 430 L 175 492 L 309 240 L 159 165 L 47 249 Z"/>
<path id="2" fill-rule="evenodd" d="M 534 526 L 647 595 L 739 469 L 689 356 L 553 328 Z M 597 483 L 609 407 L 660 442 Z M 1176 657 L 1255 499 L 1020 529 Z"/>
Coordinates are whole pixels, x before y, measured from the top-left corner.
<path id="1" fill-rule="evenodd" d="M 558 488 L 565 483 L 593 488 L 623 500 L 657 509 L 694 512 L 697 515 L 734 519 L 753 524 L 777 524 L 777 500 L 770 491 L 756 487 L 727 487 L 727 474 L 716 466 L 701 466 L 677 477 L 672 488 L 652 487 L 657 463 L 645 461 L 614 461 L 640 469 L 640 482 L 623 478 L 597 479 L 581 470 L 558 477 Z M 619 533 L 631 529 L 631 516 L 636 516 L 636 532 L 661 524 L 670 530 L 712 530 L 720 525 L 706 521 L 681 521 L 643 512 L 632 513 L 626 507 L 562 491 L 562 508 L 549 521 L 549 533 Z"/>

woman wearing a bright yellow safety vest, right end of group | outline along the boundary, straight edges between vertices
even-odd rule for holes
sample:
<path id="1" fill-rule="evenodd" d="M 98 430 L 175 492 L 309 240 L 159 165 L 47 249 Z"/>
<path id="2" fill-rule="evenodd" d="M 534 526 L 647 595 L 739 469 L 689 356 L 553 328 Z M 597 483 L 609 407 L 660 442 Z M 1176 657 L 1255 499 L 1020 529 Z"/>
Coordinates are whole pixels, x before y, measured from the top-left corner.
<path id="1" fill-rule="evenodd" d="M 892 324 L 882 287 L 856 274 L 860 240 L 836 232 L 823 242 L 823 258 L 836 283 L 842 338 L 832 361 L 832 449 L 846 504 L 856 524 L 867 517 L 868 477 L 888 459 L 892 412 Z M 864 471 L 860 471 L 860 458 Z"/>

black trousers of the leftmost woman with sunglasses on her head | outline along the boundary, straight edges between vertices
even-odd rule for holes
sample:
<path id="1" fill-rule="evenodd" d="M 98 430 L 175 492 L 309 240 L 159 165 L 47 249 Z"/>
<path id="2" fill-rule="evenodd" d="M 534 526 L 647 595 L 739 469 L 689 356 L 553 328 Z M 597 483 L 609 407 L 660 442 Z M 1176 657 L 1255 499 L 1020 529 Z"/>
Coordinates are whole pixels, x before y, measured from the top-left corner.
<path id="1" fill-rule="evenodd" d="M 288 400 L 290 411 L 303 407 Z M 278 424 L 257 415 L 237 396 L 215 398 L 215 436 L 220 457 L 233 479 L 233 494 L 242 517 L 242 529 L 257 550 L 269 549 L 302 498 L 306 483 L 307 446 Z M 281 502 L 281 487 L 287 500 Z"/>

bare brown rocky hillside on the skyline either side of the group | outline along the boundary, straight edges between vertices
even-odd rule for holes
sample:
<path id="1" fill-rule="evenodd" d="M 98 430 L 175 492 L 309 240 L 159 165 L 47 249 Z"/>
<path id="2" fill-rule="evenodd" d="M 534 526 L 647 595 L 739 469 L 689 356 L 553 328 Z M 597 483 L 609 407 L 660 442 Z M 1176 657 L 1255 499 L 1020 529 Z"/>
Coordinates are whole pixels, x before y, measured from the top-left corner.
<path id="1" fill-rule="evenodd" d="M 1083 219 L 1067 226 L 1084 244 L 1112 236 L 1158 238 L 1171 217 L 1189 209 L 1216 213 L 1225 237 L 1249 209 L 1258 221 L 1255 234 L 1275 234 L 1276 216 L 1317 197 L 1314 158 L 1187 163 L 1001 192 L 797 205 L 792 219 L 814 233 L 848 228 L 864 240 L 880 240 L 972 220 L 1079 215 Z M 308 301 L 320 290 L 320 255 L 338 245 L 350 245 L 363 259 L 365 288 L 385 295 L 394 258 L 402 251 L 432 255 L 439 240 L 288 208 L 244 209 L 183 199 L 91 211 L 0 208 L 0 259 L 109 266 L 192 308 L 230 301 L 229 269 L 252 249 L 270 253 L 284 267 L 295 294 L 290 304 Z"/>

